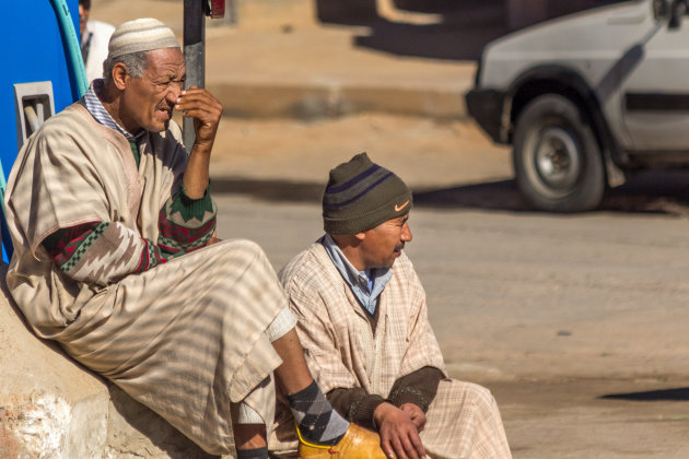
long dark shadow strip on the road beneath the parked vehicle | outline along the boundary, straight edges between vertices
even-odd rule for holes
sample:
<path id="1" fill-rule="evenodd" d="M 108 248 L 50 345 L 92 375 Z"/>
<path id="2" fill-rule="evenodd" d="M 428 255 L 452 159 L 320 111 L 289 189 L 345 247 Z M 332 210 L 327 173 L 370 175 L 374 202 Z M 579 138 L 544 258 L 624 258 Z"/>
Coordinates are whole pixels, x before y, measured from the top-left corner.
<path id="1" fill-rule="evenodd" d="M 275 202 L 319 203 L 324 184 L 278 179 L 213 178 L 212 192 L 246 195 Z M 593 212 L 689 216 L 689 172 L 644 172 L 626 185 L 608 190 Z M 519 193 L 515 180 L 457 185 L 413 190 L 420 209 L 468 209 L 536 212 Z"/>

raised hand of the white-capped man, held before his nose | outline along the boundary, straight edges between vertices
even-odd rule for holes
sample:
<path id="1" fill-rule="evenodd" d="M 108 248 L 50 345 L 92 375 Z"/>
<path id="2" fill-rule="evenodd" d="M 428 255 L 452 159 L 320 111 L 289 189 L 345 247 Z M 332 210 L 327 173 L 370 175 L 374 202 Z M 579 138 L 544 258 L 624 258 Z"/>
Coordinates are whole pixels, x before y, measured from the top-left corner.
<path id="1" fill-rule="evenodd" d="M 190 86 L 182 92 L 175 109 L 185 118 L 194 118 L 195 143 L 212 146 L 222 118 L 222 104 L 205 89 Z"/>

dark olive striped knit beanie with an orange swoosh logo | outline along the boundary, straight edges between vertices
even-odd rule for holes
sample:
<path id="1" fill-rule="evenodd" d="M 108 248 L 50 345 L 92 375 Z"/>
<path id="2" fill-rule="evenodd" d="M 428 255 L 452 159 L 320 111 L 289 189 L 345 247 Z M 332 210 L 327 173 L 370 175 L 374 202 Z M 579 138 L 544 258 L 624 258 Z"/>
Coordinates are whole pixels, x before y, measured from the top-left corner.
<path id="1" fill-rule="evenodd" d="M 360 153 L 330 170 L 323 227 L 329 234 L 357 234 L 406 214 L 411 205 L 407 185 Z"/>

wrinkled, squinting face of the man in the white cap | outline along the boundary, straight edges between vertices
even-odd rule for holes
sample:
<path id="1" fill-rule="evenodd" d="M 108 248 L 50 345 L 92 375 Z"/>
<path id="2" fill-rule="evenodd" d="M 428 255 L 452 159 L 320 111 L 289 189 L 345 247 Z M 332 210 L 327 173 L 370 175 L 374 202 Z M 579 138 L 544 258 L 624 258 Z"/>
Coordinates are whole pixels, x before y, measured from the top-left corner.
<path id="1" fill-rule="evenodd" d="M 122 93 L 120 118 L 125 129 L 162 132 L 167 129 L 186 78 L 184 55 L 178 48 L 149 51 L 140 79 L 128 76 Z"/>

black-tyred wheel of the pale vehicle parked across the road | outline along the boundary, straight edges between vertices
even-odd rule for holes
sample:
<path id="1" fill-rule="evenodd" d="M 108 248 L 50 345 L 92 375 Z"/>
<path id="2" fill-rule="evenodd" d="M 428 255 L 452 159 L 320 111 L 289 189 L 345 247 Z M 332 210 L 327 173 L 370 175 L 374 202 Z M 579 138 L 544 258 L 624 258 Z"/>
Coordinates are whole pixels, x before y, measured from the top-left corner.
<path id="1" fill-rule="evenodd" d="M 524 108 L 513 162 L 519 190 L 538 210 L 581 212 L 603 199 L 600 148 L 586 117 L 567 97 L 541 95 Z"/>

